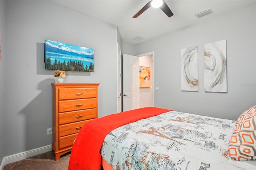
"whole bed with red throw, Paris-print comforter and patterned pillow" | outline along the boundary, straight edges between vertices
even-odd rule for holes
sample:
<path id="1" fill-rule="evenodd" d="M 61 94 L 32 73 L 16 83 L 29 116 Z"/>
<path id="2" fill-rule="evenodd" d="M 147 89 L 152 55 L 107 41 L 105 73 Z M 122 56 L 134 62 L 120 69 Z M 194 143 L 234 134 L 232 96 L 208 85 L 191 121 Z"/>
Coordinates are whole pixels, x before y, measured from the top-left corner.
<path id="1" fill-rule="evenodd" d="M 157 107 L 81 128 L 69 170 L 255 170 L 256 105 L 236 120 Z"/>

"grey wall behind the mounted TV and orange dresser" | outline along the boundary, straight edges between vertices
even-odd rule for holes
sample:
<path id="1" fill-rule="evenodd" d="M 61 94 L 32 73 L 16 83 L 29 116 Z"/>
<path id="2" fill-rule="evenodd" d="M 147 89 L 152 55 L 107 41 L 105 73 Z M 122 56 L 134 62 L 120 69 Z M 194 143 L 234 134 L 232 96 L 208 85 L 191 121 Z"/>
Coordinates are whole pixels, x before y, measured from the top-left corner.
<path id="1" fill-rule="evenodd" d="M 46 129 L 52 127 L 55 79 L 53 70 L 44 69 L 45 39 L 94 48 L 94 73 L 67 71 L 64 82 L 100 83 L 98 116 L 116 113 L 116 26 L 50 1 L 28 0 L 6 1 L 5 28 L 2 156 L 52 144 Z"/>

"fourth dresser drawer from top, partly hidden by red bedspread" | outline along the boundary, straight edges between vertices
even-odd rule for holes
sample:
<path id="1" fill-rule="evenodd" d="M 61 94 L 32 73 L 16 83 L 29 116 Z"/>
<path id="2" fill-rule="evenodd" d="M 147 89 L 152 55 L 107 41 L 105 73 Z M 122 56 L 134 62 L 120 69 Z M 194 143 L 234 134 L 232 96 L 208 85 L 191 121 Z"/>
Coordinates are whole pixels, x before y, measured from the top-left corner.
<path id="1" fill-rule="evenodd" d="M 78 133 L 79 130 L 84 126 L 84 124 L 88 123 L 90 120 L 87 121 L 80 121 L 77 123 L 69 123 L 66 125 L 59 125 L 59 137 L 66 136 L 69 134 Z"/>

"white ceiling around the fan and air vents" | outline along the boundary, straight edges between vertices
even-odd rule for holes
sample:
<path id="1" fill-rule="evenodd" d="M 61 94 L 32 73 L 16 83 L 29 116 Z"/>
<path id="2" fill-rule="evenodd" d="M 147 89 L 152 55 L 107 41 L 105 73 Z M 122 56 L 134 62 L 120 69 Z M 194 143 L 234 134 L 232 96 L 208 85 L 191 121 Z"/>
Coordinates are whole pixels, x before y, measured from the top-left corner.
<path id="1" fill-rule="evenodd" d="M 256 0 L 165 0 L 174 16 L 168 18 L 161 9 L 150 7 L 138 18 L 132 18 L 150 0 L 50 1 L 117 26 L 122 41 L 133 44 L 145 42 L 256 2 Z M 211 8 L 212 14 L 201 18 L 195 16 L 208 8 Z M 239 15 L 239 10 L 237 14 Z M 132 39 L 137 36 L 144 39 L 140 41 Z"/>

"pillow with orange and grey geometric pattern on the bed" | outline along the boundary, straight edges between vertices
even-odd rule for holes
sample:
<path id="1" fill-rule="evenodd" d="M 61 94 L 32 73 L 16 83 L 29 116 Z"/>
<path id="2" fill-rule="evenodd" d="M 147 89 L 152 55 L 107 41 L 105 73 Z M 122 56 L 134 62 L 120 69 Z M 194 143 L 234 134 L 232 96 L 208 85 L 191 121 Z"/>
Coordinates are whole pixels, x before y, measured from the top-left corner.
<path id="1" fill-rule="evenodd" d="M 256 105 L 238 117 L 228 150 L 233 160 L 256 160 Z"/>

